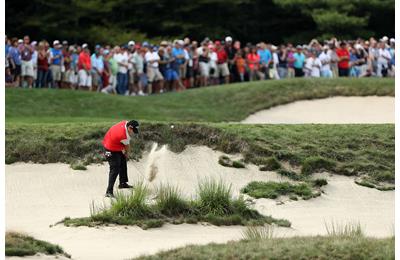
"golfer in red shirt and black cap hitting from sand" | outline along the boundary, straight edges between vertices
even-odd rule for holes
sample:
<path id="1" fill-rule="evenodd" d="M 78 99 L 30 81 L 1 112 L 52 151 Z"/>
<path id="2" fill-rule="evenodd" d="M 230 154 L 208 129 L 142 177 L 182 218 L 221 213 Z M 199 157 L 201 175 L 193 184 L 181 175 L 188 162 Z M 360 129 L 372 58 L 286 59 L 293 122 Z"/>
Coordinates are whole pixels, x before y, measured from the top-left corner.
<path id="1" fill-rule="evenodd" d="M 106 197 L 114 197 L 114 183 L 119 175 L 119 189 L 132 188 L 128 184 L 126 161 L 129 154 L 129 142 L 139 133 L 139 123 L 135 120 L 122 121 L 108 129 L 103 139 L 105 157 L 110 165 Z"/>

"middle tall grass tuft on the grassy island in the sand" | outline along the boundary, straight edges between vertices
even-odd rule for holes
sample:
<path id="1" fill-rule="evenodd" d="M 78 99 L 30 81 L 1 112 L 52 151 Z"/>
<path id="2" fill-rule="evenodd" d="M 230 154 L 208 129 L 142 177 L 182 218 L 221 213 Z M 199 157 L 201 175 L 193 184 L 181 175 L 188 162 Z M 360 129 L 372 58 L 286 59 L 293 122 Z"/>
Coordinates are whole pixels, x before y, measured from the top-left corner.
<path id="1" fill-rule="evenodd" d="M 189 204 L 181 195 L 178 187 L 161 185 L 157 190 L 156 207 L 161 214 L 166 216 L 178 216 L 187 213 Z"/>

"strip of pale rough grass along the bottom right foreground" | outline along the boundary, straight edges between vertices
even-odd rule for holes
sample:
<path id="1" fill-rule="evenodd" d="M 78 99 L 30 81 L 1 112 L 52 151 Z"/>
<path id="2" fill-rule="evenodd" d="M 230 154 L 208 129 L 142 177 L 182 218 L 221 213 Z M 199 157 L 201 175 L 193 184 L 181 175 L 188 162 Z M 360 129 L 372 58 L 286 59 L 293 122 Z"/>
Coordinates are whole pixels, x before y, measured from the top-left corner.
<path id="1" fill-rule="evenodd" d="M 135 259 L 395 259 L 395 243 L 394 238 L 347 236 L 252 239 L 186 246 Z"/>

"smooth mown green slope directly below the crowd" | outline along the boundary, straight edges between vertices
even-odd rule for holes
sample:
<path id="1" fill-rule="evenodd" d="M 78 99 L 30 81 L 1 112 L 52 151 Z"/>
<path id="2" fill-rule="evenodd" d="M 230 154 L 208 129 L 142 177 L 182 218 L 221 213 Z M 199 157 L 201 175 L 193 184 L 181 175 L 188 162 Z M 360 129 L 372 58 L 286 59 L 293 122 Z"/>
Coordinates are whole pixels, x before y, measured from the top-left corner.
<path id="1" fill-rule="evenodd" d="M 69 90 L 6 89 L 7 122 L 232 122 L 276 105 L 330 96 L 394 96 L 394 79 L 288 79 L 231 84 L 149 97 Z"/>

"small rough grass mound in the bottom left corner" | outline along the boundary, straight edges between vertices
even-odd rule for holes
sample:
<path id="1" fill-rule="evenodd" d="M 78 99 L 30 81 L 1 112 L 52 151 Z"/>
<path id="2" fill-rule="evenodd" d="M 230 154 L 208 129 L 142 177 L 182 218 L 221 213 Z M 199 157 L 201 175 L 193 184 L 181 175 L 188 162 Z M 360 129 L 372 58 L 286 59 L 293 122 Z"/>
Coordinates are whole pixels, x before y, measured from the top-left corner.
<path id="1" fill-rule="evenodd" d="M 6 256 L 32 256 L 37 253 L 46 255 L 64 255 L 70 258 L 58 245 L 37 240 L 31 236 L 16 232 L 6 232 L 5 236 L 5 255 Z"/>

